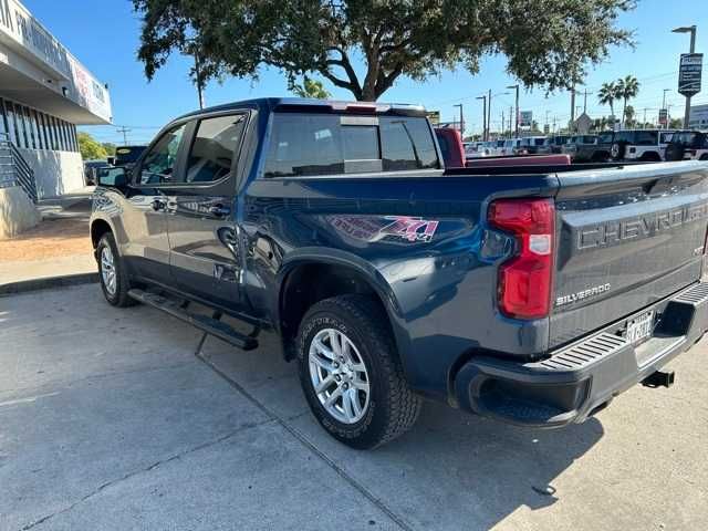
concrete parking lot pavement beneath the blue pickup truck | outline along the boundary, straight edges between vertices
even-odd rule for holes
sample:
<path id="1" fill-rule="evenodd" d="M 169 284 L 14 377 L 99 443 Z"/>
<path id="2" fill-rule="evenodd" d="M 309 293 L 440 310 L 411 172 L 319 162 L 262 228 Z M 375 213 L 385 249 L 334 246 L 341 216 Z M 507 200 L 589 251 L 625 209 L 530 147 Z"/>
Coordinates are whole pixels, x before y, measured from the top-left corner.
<path id="1" fill-rule="evenodd" d="M 708 342 L 538 431 L 428 403 L 381 449 L 316 425 L 275 339 L 241 353 L 96 284 L 0 298 L 0 529 L 706 529 Z"/>

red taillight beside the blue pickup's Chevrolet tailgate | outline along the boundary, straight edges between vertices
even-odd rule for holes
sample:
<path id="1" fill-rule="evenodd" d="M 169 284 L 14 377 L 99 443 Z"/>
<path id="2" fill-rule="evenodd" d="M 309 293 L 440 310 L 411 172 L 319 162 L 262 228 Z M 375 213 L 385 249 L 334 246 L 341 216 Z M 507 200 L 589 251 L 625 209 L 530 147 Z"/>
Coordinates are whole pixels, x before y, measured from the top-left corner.
<path id="1" fill-rule="evenodd" d="M 489 223 L 514 235 L 518 252 L 499 268 L 499 308 L 517 319 L 540 319 L 551 310 L 555 207 L 552 199 L 500 199 Z"/>

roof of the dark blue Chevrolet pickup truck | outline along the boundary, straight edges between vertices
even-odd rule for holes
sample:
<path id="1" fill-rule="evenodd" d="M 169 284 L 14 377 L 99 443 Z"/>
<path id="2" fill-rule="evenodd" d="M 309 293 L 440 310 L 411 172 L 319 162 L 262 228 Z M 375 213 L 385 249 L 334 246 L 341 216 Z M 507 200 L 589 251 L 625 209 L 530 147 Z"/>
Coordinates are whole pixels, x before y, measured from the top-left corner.
<path id="1" fill-rule="evenodd" d="M 350 111 L 354 113 L 365 114 L 369 112 L 374 114 L 391 113 L 416 116 L 425 116 L 426 114 L 425 107 L 423 105 L 410 105 L 406 103 L 351 102 L 340 100 L 315 100 L 305 97 L 257 97 L 252 100 L 242 100 L 240 102 L 231 102 L 223 105 L 192 111 L 191 113 L 187 113 L 177 119 L 183 119 L 190 116 L 200 116 L 202 114 L 218 113 L 221 111 L 237 111 L 239 108 L 260 108 L 272 111 L 279 107 L 319 107 L 322 111 Z"/>

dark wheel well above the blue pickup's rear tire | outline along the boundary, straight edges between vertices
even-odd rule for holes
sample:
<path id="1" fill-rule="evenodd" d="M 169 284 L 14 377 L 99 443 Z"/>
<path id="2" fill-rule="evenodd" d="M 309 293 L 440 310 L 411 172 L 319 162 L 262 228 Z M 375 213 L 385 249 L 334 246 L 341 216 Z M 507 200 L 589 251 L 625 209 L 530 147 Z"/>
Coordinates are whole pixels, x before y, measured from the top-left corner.
<path id="1" fill-rule="evenodd" d="M 295 356 L 294 344 L 300 322 L 315 303 L 336 295 L 358 293 L 369 295 L 382 310 L 386 308 L 368 280 L 346 266 L 306 263 L 293 269 L 282 283 L 280 292 L 280 329 L 285 360 Z M 387 325 L 393 334 L 391 322 Z"/>

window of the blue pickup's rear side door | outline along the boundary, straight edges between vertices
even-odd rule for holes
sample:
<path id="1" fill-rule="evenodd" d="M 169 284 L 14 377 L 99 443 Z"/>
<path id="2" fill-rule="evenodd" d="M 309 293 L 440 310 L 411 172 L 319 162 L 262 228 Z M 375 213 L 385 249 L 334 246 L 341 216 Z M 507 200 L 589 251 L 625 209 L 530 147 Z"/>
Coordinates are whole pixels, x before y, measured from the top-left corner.
<path id="1" fill-rule="evenodd" d="M 246 115 L 200 121 L 189 149 L 185 180 L 210 183 L 229 175 L 244 126 Z"/>

